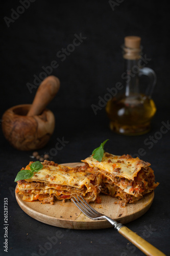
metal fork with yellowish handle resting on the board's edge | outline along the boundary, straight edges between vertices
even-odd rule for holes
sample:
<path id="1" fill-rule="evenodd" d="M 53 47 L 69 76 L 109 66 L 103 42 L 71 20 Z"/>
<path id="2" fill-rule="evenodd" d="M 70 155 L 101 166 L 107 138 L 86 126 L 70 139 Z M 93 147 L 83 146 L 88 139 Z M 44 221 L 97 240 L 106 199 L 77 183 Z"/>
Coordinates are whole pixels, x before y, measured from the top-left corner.
<path id="1" fill-rule="evenodd" d="M 77 198 L 76 198 L 77 197 Z M 132 244 L 139 248 L 146 255 L 152 256 L 166 256 L 163 252 L 158 250 L 156 247 L 145 241 L 143 238 L 139 237 L 132 230 L 123 226 L 123 224 L 118 223 L 106 215 L 101 214 L 99 211 L 94 210 L 82 196 L 72 197 L 71 201 L 86 215 L 92 220 L 107 220 L 109 221 L 117 231 L 122 234 L 126 239 L 128 239 Z"/>

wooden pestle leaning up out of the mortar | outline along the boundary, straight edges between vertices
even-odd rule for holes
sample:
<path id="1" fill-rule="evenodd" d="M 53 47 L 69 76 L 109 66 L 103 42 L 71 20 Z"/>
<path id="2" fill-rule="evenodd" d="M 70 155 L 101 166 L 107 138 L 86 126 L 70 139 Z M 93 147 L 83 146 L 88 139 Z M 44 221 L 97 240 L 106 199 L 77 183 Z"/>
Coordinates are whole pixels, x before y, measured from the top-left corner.
<path id="1" fill-rule="evenodd" d="M 60 88 L 60 80 L 55 76 L 46 77 L 36 92 L 27 116 L 40 115 L 47 104 L 55 97 Z"/>

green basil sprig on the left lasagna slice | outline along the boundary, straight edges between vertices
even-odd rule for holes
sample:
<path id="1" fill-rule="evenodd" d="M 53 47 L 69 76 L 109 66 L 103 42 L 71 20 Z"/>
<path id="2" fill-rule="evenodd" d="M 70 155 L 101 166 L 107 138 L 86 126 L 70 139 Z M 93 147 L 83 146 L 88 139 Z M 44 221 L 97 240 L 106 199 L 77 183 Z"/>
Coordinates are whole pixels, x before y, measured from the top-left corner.
<path id="1" fill-rule="evenodd" d="M 20 170 L 15 178 L 15 182 L 18 180 L 26 180 L 33 177 L 34 173 L 37 173 L 39 170 L 43 168 L 42 163 L 40 161 L 36 161 L 30 165 L 31 170 Z"/>

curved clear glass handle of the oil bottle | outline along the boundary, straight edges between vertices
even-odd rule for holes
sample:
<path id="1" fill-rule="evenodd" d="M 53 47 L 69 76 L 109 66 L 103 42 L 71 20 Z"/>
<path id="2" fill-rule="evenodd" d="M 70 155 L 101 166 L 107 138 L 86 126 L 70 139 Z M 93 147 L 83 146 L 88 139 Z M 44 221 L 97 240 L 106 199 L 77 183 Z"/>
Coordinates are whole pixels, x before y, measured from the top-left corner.
<path id="1" fill-rule="evenodd" d="M 151 97 L 157 81 L 156 74 L 150 68 L 142 68 L 139 70 L 139 77 L 142 75 L 149 77 L 149 84 L 148 84 L 147 90 L 145 91 L 145 94 Z"/>

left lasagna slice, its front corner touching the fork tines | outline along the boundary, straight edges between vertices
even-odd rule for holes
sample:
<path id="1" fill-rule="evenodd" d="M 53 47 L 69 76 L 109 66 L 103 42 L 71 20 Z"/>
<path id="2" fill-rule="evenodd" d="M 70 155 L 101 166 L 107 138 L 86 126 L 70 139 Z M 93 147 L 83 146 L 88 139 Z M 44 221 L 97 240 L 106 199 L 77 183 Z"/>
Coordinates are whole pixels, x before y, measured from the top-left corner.
<path id="1" fill-rule="evenodd" d="M 22 169 L 30 169 L 31 163 Z M 54 204 L 80 195 L 88 202 L 99 200 L 101 176 L 87 165 L 71 168 L 47 160 L 42 164 L 32 178 L 17 181 L 16 193 L 23 195 L 22 200 Z"/>

